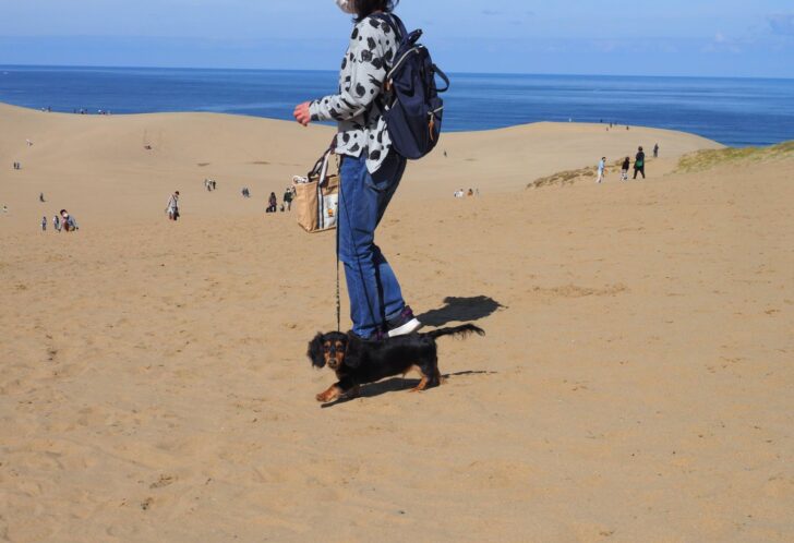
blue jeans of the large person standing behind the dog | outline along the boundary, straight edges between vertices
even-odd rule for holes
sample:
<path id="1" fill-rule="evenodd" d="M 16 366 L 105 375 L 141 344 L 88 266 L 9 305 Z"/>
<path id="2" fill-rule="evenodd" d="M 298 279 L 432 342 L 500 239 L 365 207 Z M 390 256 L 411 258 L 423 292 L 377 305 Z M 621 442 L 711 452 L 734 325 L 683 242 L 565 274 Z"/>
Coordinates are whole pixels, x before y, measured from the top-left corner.
<path id="1" fill-rule="evenodd" d="M 353 333 L 362 338 L 384 329 L 386 321 L 402 313 L 397 277 L 375 245 L 375 228 L 392 201 L 406 160 L 392 154 L 373 177 L 366 159 L 346 156 L 339 173 L 339 258 L 345 265 Z"/>

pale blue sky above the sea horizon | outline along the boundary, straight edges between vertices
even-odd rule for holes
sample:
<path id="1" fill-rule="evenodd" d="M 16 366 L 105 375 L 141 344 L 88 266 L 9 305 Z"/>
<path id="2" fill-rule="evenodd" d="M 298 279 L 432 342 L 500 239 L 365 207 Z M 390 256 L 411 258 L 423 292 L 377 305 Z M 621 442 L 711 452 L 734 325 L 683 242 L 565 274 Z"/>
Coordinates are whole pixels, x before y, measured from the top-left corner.
<path id="1" fill-rule="evenodd" d="M 0 0 L 0 64 L 327 69 L 333 0 Z M 402 0 L 447 71 L 794 77 L 793 0 Z"/>

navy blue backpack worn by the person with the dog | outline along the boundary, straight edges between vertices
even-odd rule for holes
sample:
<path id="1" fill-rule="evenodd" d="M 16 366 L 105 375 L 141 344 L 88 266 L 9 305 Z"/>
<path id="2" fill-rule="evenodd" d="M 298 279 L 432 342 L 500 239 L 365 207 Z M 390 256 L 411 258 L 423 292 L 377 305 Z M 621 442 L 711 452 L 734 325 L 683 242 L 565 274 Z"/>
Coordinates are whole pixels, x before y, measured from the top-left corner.
<path id="1" fill-rule="evenodd" d="M 449 79 L 433 63 L 430 51 L 418 44 L 422 31 L 408 34 L 402 21 L 394 14 L 373 16 L 387 23 L 399 40 L 394 65 L 386 75 L 386 90 L 392 92 L 393 104 L 384 117 L 392 147 L 416 160 L 438 143 L 444 113 L 444 100 L 438 93 L 449 88 Z M 444 81 L 444 88 L 436 86 L 436 75 Z"/>

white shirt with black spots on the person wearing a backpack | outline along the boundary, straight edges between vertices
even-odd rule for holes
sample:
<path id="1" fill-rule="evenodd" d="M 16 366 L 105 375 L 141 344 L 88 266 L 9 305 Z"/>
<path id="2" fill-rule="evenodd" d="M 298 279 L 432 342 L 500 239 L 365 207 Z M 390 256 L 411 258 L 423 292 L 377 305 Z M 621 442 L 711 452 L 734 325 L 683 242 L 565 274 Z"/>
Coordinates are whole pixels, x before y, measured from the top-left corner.
<path id="1" fill-rule="evenodd" d="M 339 94 L 311 104 L 313 121 L 337 121 L 336 153 L 366 157 L 366 169 L 378 170 L 392 148 L 383 117 L 387 110 L 386 73 L 397 55 L 397 37 L 381 20 L 366 17 L 356 25 L 341 62 Z"/>

